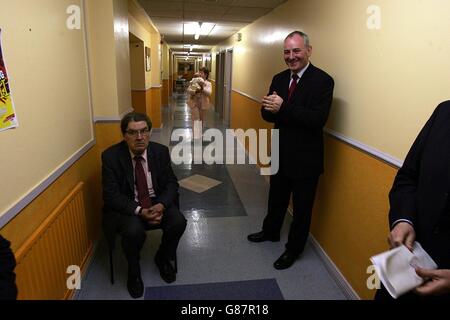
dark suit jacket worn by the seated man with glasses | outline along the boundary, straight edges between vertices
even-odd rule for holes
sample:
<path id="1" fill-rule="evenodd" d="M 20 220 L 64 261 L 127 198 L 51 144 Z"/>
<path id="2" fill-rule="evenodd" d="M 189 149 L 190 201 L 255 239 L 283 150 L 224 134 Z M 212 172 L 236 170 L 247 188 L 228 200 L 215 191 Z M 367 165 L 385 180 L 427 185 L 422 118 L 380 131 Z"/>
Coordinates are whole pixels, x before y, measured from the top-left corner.
<path id="1" fill-rule="evenodd" d="M 172 170 L 169 149 L 162 144 L 150 142 L 147 159 L 157 203 L 162 203 L 166 208 L 172 205 L 178 207 L 178 181 Z M 113 247 L 117 218 L 120 214 L 134 215 L 139 206 L 134 200 L 133 164 L 125 141 L 102 153 L 102 185 L 103 228 Z"/>

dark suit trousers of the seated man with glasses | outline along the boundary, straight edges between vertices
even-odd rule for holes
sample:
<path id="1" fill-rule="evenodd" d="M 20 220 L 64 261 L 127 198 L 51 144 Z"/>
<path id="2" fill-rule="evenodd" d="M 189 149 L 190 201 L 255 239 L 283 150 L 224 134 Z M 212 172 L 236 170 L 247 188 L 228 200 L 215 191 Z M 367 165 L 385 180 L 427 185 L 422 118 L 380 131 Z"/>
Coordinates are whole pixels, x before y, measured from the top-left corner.
<path id="1" fill-rule="evenodd" d="M 162 239 L 159 253 L 169 259 L 175 258 L 181 236 L 186 229 L 186 219 L 177 206 L 166 208 L 161 220 Z M 120 215 L 117 232 L 122 237 L 122 249 L 128 261 L 129 273 L 140 274 L 140 252 L 146 239 L 146 231 L 152 229 L 140 216 Z"/>

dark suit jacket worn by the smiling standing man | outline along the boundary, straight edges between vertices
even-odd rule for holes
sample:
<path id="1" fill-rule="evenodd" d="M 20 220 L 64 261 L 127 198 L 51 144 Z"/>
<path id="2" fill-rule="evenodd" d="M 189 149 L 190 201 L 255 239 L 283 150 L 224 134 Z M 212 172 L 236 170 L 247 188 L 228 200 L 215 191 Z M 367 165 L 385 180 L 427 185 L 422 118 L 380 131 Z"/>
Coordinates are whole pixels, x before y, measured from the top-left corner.
<path id="1" fill-rule="evenodd" d="M 323 126 L 333 100 L 334 80 L 311 63 L 288 100 L 291 71 L 272 79 L 268 95 L 274 91 L 283 99 L 273 114 L 261 108 L 264 120 L 275 123 L 280 133 L 280 170 L 291 178 L 319 176 L 323 173 Z"/>

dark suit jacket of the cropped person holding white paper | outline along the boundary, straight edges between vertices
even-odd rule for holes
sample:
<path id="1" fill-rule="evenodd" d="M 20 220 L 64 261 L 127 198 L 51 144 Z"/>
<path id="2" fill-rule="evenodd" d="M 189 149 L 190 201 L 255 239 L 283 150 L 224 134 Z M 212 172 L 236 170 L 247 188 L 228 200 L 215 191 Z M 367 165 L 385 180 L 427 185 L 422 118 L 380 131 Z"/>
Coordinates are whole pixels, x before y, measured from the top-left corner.
<path id="1" fill-rule="evenodd" d="M 389 222 L 407 219 L 440 269 L 450 269 L 450 101 L 434 111 L 389 193 Z M 450 296 L 450 295 L 449 295 Z"/>

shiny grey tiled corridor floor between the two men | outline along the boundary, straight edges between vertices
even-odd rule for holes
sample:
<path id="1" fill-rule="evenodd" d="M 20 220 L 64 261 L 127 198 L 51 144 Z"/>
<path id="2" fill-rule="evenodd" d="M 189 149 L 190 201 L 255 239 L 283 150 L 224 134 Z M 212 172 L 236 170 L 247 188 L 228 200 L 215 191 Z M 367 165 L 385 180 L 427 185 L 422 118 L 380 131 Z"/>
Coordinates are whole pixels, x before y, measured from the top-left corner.
<path id="1" fill-rule="evenodd" d="M 189 138 L 190 115 L 185 96 L 172 97 L 163 118 L 164 127 L 153 132 L 153 141 L 173 149 L 177 145 L 170 142 L 173 129 L 184 128 L 183 143 L 193 143 Z M 212 110 L 207 127 L 222 132 L 225 129 Z M 177 281 L 166 284 L 160 278 L 153 256 L 161 231 L 150 231 L 141 258 L 146 287 L 275 279 L 284 299 L 345 299 L 309 244 L 291 268 L 283 271 L 273 268 L 273 262 L 284 250 L 289 215 L 280 242 L 247 241 L 249 233 L 261 228 L 268 195 L 268 184 L 254 165 L 193 164 L 192 155 L 187 159 L 190 163 L 173 165 L 181 180 L 181 210 L 188 220 L 178 247 Z M 120 246 L 116 248 L 114 264 L 116 282 L 111 285 L 108 255 L 102 239 L 96 246 L 77 298 L 131 299 L 126 289 L 127 266 Z"/>

